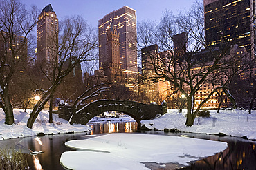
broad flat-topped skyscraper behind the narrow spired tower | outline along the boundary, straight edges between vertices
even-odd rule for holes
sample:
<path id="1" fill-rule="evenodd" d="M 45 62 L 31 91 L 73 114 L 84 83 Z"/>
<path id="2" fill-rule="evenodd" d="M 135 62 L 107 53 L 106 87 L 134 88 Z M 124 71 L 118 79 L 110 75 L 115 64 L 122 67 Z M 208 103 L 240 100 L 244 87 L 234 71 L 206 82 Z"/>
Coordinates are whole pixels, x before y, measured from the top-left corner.
<path id="1" fill-rule="evenodd" d="M 137 52 L 131 49 L 136 46 L 136 10 L 124 6 L 105 15 L 98 21 L 99 34 L 99 68 L 107 62 L 107 29 L 111 23 L 119 34 L 120 65 L 127 85 L 137 76 Z"/>

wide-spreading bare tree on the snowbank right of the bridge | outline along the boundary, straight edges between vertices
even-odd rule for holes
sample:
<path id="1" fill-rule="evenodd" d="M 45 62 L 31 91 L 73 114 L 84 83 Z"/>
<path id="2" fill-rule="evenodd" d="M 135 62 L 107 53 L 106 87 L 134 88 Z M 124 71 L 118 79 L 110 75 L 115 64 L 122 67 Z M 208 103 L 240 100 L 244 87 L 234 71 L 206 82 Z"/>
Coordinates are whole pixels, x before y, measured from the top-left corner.
<path id="1" fill-rule="evenodd" d="M 145 34 L 145 32 L 151 32 Z M 176 36 L 184 32 L 186 36 Z M 147 39 L 152 39 L 148 41 Z M 182 36 L 182 35 L 181 35 Z M 150 43 L 150 44 L 148 44 Z M 138 27 L 138 46 L 158 45 L 159 51 L 166 55 L 151 56 L 149 63 L 154 66 L 157 77 L 169 81 L 187 99 L 187 119 L 185 125 L 192 126 L 199 109 L 210 99 L 212 94 L 222 86 L 215 87 L 205 94 L 194 111 L 195 94 L 206 83 L 214 72 L 229 69 L 234 63 L 239 63 L 243 57 L 227 56 L 230 44 L 223 41 L 221 47 L 209 47 L 205 42 L 203 5 L 195 3 L 192 9 L 174 17 L 172 12 L 165 12 L 161 22 L 154 29 L 142 25 Z M 239 70 L 239 69 L 238 69 Z"/>

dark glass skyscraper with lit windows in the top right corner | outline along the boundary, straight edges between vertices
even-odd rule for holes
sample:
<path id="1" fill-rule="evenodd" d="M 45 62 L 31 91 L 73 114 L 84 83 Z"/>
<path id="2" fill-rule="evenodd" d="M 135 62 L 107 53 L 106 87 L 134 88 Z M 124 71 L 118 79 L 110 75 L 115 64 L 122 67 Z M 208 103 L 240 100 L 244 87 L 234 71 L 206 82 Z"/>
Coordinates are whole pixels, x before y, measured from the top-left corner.
<path id="1" fill-rule="evenodd" d="M 203 3 L 208 46 L 230 43 L 245 47 L 248 52 L 254 49 L 255 0 L 204 0 Z"/>

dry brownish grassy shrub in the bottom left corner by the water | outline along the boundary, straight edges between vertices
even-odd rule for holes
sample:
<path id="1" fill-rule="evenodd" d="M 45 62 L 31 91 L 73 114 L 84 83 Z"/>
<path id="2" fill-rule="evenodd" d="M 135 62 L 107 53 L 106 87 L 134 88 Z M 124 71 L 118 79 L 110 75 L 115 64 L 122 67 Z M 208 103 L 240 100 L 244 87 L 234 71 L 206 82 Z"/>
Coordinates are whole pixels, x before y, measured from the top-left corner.
<path id="1" fill-rule="evenodd" d="M 0 169 L 28 169 L 25 154 L 16 152 L 15 149 L 0 149 Z"/>

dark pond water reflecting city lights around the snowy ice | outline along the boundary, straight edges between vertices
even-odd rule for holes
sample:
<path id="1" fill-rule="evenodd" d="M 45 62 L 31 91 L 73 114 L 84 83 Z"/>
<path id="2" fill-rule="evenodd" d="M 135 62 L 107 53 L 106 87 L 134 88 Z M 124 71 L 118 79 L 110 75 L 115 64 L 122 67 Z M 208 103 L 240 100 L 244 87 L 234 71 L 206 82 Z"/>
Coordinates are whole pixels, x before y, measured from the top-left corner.
<path id="1" fill-rule="evenodd" d="M 138 124 L 136 122 L 118 122 L 118 123 L 92 123 L 89 124 L 92 127 L 91 134 L 104 134 L 104 133 L 116 133 L 116 132 L 136 132 Z M 151 169 L 174 169 L 182 167 L 181 169 L 252 169 L 256 170 L 256 149 L 255 141 L 244 140 L 241 138 L 235 138 L 230 136 L 220 137 L 206 134 L 192 134 L 192 133 L 165 133 L 164 131 L 142 131 L 146 134 L 159 134 L 170 136 L 183 136 L 184 138 L 202 138 L 206 140 L 216 140 L 228 142 L 228 149 L 221 153 L 217 153 L 215 156 L 210 156 L 192 162 L 189 167 L 183 167 L 172 163 L 164 162 L 165 167 L 162 164 L 155 162 L 146 162 L 147 167 Z M 0 141 L 0 147 L 16 147 L 21 148 L 24 153 L 30 153 L 30 151 L 42 151 L 43 153 L 37 155 L 27 154 L 28 164 L 30 169 L 64 169 L 60 164 L 60 156 L 64 151 L 74 151 L 64 145 L 68 140 L 89 138 L 93 136 L 85 136 L 86 133 L 77 134 L 60 134 L 53 136 L 42 137 L 28 137 L 18 138 L 12 140 Z M 210 146 L 209 146 L 210 147 Z M 100 160 L 99 160 L 100 161 Z"/>

